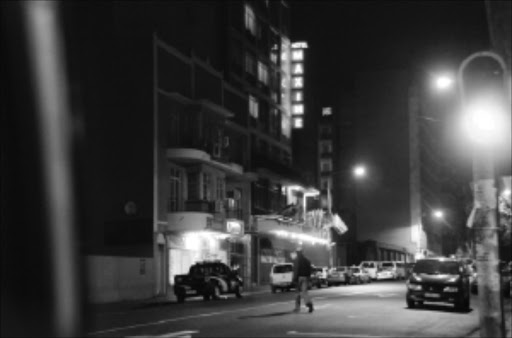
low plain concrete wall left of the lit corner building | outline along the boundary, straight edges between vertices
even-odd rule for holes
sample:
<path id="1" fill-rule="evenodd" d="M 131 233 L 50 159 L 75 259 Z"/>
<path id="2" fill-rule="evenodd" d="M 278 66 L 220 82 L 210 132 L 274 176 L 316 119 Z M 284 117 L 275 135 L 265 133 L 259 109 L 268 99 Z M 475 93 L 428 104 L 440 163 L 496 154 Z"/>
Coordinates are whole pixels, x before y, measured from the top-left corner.
<path id="1" fill-rule="evenodd" d="M 87 256 L 88 301 L 145 299 L 153 296 L 152 258 Z"/>

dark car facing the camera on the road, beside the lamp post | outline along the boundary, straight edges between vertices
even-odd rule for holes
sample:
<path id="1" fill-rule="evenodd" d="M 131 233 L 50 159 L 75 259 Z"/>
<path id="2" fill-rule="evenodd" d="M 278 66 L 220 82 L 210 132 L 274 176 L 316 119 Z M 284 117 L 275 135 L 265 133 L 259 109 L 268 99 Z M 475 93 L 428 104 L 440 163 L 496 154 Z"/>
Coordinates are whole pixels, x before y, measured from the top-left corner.
<path id="1" fill-rule="evenodd" d="M 469 310 L 470 271 L 452 258 L 420 259 L 407 280 L 406 301 L 409 308 L 423 302 L 443 302 L 458 310 Z"/>

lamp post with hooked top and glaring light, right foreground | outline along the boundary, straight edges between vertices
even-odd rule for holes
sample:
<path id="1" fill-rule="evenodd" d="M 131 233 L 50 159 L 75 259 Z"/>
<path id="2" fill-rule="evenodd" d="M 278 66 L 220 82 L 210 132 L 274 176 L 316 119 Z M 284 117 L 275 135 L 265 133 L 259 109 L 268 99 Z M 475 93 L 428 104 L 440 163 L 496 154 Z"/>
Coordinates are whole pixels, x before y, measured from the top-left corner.
<path id="1" fill-rule="evenodd" d="M 472 132 L 479 133 L 478 140 L 474 142 L 473 155 L 473 194 L 474 194 L 474 223 L 476 263 L 478 267 L 478 297 L 480 298 L 480 332 L 481 337 L 504 337 L 505 328 L 503 321 L 503 304 L 500 297 L 500 274 L 499 274 L 499 248 L 498 248 L 498 224 L 497 224 L 497 202 L 496 189 L 494 187 L 494 163 L 491 142 L 486 139 L 492 130 L 492 124 L 480 120 L 480 113 L 483 111 L 487 118 L 494 113 L 491 107 L 480 109 L 469 109 L 468 96 L 465 92 L 464 71 L 466 67 L 478 58 L 490 58 L 496 61 L 503 72 L 503 82 L 508 90 L 507 68 L 503 59 L 493 52 L 477 52 L 468 56 L 459 66 L 458 84 L 460 90 L 460 101 L 464 111 L 472 112 Z M 509 94 L 510 95 L 510 94 Z M 475 99 L 475 98 L 470 98 Z M 510 97 L 507 98 L 510 100 Z M 474 101 L 474 100 L 473 100 Z M 510 107 L 510 102 L 508 102 Z M 478 122 L 480 121 L 480 122 Z M 481 129 L 478 129 L 481 128 Z M 481 133 L 480 133 L 481 132 Z"/>

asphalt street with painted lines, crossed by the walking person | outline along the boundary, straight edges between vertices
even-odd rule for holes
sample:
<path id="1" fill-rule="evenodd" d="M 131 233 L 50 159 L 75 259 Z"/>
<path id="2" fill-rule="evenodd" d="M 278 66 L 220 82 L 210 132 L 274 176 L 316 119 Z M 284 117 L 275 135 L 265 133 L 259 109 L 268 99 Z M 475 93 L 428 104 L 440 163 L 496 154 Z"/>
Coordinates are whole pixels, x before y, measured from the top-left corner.
<path id="1" fill-rule="evenodd" d="M 243 299 L 145 304 L 96 313 L 89 337 L 463 337 L 478 327 L 478 299 L 468 312 L 450 304 L 408 309 L 404 281 L 311 290 L 315 311 L 293 313 L 294 292 Z"/>

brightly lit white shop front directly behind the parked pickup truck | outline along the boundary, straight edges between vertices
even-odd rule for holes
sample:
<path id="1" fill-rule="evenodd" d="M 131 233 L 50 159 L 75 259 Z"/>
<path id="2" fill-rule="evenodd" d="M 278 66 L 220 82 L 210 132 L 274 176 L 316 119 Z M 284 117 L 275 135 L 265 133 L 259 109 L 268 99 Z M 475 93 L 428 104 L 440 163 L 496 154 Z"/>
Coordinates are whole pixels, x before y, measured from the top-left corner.
<path id="1" fill-rule="evenodd" d="M 221 261 L 240 268 L 243 274 L 244 224 L 198 212 L 175 212 L 168 215 L 169 284 L 174 276 L 186 274 L 199 261 Z M 242 252 L 240 252 L 242 251 Z"/>

